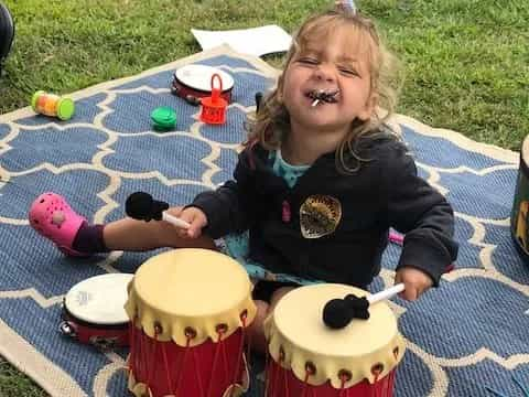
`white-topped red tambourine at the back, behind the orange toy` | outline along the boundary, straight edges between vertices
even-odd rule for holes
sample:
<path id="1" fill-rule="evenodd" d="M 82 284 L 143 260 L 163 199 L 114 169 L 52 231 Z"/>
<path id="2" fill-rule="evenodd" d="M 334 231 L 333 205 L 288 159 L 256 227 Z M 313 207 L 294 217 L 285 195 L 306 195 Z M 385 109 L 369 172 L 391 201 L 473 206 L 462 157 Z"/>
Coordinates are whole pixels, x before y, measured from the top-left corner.
<path id="1" fill-rule="evenodd" d="M 201 98 L 212 96 L 212 77 L 220 76 L 223 82 L 220 97 L 228 104 L 231 101 L 234 78 L 226 72 L 206 65 L 185 65 L 174 72 L 171 92 L 192 103 L 199 105 Z"/>

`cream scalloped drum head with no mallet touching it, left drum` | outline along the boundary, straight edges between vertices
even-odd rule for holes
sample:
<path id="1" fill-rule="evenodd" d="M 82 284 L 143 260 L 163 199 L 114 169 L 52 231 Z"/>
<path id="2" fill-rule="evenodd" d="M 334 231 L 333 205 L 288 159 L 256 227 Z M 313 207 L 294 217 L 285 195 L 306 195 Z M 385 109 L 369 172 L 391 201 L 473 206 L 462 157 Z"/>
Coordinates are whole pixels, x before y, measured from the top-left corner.
<path id="1" fill-rule="evenodd" d="M 148 259 L 136 272 L 126 309 L 149 336 L 194 344 L 217 337 L 218 326 L 230 334 L 250 322 L 256 307 L 248 273 L 230 257 L 198 248 L 166 251 Z"/>

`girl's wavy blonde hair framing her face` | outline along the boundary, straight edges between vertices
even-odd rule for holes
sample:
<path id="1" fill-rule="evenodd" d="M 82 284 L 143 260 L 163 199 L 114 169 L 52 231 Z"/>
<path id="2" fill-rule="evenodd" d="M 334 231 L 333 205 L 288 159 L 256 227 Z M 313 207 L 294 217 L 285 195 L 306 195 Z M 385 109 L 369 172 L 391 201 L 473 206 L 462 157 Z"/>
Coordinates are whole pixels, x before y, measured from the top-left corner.
<path id="1" fill-rule="evenodd" d="M 354 120 L 349 132 L 336 148 L 337 169 L 344 172 L 354 172 L 358 170 L 363 161 L 369 160 L 363 159 L 355 150 L 359 139 L 375 137 L 380 131 L 391 131 L 387 120 L 397 105 L 401 74 L 397 58 L 380 41 L 375 23 L 359 12 L 352 13 L 343 10 L 313 15 L 301 25 L 287 53 L 283 71 L 299 51 L 306 47 L 309 43 L 313 43 L 314 40 L 325 40 L 336 29 L 348 29 L 356 42 L 367 43 L 371 96 L 375 98 L 375 108 L 377 109 L 366 121 Z M 260 143 L 268 150 L 279 149 L 283 138 L 289 133 L 290 116 L 281 100 L 283 79 L 283 74 L 281 74 L 276 87 L 263 98 L 256 118 L 248 122 L 249 136 L 245 142 L 246 147 Z M 349 159 L 353 161 L 348 161 Z"/>

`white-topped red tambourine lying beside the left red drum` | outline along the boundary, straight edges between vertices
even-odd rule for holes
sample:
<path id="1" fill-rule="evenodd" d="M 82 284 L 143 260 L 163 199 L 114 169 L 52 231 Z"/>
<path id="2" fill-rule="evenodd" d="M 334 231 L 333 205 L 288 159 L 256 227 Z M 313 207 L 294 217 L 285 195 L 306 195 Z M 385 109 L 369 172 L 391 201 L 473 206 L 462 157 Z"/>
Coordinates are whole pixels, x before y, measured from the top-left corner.
<path id="1" fill-rule="evenodd" d="M 78 282 L 63 300 L 60 331 L 78 342 L 109 350 L 129 344 L 123 309 L 132 275 L 109 273 Z"/>

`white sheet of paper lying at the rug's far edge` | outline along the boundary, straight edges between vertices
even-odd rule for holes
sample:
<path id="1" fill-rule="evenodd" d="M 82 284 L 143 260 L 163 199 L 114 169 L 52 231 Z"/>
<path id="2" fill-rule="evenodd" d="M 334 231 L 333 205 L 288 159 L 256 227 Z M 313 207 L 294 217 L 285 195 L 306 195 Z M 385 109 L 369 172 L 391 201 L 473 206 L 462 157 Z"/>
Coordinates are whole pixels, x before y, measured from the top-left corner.
<path id="1" fill-rule="evenodd" d="M 290 34 L 278 25 L 229 31 L 192 29 L 191 32 L 203 50 L 228 44 L 238 53 L 255 56 L 288 51 L 292 41 Z"/>

